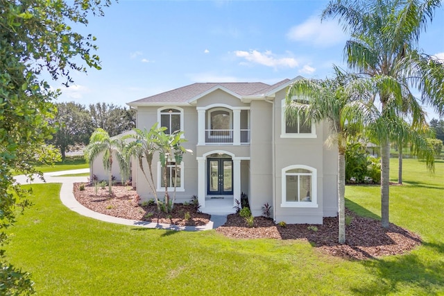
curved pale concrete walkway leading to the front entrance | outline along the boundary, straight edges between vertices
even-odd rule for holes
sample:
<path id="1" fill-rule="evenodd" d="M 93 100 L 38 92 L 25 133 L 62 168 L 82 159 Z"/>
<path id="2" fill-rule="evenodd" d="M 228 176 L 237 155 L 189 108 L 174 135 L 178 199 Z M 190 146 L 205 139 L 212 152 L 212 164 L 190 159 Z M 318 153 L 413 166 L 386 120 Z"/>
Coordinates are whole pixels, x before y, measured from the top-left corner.
<path id="1" fill-rule="evenodd" d="M 87 182 L 87 176 L 62 176 L 65 174 L 82 174 L 89 172 L 89 169 L 80 169 L 80 170 L 68 170 L 68 171 L 60 171 L 60 172 L 49 172 L 43 174 L 45 181 L 42 179 L 35 177 L 33 181 L 30 181 L 26 176 L 19 175 L 15 176 L 15 180 L 20 184 L 37 184 L 37 183 L 62 183 L 62 188 L 60 189 L 60 200 L 62 204 L 65 204 L 71 211 L 79 213 L 80 215 L 84 215 L 86 217 L 92 217 L 96 220 L 101 220 L 110 223 L 123 224 L 129 226 L 137 226 L 137 227 L 145 227 L 145 228 L 157 228 L 157 229 L 169 229 L 169 230 L 185 230 L 185 231 L 201 231 L 201 230 L 210 230 L 216 229 L 221 225 L 225 224 L 227 221 L 226 215 L 212 215 L 211 220 L 205 226 L 185 226 L 178 227 L 176 225 L 171 224 L 161 224 L 155 222 L 144 222 L 138 220 L 128 220 L 119 217 L 112 217 L 109 215 L 104 215 L 101 213 L 96 213 L 89 208 L 85 208 L 82 204 L 77 202 L 77 199 L 74 197 L 73 188 L 74 183 L 78 182 Z"/>

